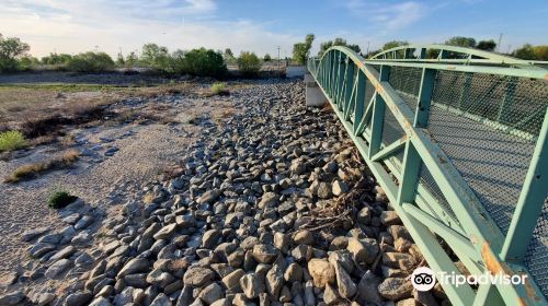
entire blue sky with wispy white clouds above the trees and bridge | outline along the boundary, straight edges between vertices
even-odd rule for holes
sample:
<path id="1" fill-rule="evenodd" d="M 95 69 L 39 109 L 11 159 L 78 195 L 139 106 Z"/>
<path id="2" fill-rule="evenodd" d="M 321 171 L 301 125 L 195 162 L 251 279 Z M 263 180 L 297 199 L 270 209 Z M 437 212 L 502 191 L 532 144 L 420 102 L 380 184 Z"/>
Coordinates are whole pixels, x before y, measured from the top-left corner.
<path id="1" fill-rule="evenodd" d="M 526 4 L 525 4 L 526 3 Z M 31 52 L 91 49 L 127 54 L 153 42 L 290 56 L 307 33 L 343 37 L 362 49 L 391 39 L 443 43 L 450 36 L 499 39 L 501 50 L 548 45 L 547 0 L 0 0 L 0 33 Z"/>

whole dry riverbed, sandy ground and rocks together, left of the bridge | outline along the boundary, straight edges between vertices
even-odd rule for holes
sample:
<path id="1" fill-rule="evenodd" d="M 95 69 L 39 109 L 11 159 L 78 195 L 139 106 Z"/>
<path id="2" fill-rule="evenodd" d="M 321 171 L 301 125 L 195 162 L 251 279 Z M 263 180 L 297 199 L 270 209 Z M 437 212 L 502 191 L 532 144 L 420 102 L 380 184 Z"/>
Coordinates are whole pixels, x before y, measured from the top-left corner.
<path id="1" fill-rule="evenodd" d="M 448 303 L 413 291 L 422 255 L 333 111 L 304 107 L 301 81 L 162 86 L 110 90 L 100 118 L 59 128 L 68 144 L 0 162 L 3 177 L 80 152 L 0 185 L 1 305 Z M 60 187 L 80 199 L 47 209 Z"/>

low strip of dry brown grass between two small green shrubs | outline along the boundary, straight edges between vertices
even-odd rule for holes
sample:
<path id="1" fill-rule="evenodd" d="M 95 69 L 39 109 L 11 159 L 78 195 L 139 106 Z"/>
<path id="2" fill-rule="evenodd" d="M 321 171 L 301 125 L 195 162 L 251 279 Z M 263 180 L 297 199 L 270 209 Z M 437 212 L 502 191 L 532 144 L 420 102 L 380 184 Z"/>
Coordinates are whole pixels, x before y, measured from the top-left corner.
<path id="1" fill-rule="evenodd" d="M 45 162 L 26 164 L 18 167 L 10 176 L 5 177 L 4 183 L 18 183 L 38 177 L 39 175 L 54 170 L 68 168 L 75 164 L 80 157 L 80 153 L 76 150 L 70 150 L 59 157 L 52 158 Z"/>

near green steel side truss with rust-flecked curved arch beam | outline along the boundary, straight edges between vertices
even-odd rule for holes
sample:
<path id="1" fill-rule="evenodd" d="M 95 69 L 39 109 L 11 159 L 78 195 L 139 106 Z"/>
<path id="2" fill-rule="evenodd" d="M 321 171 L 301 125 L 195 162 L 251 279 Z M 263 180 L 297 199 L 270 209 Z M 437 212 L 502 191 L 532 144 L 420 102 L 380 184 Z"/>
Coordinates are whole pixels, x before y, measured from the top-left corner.
<path id="1" fill-rule="evenodd" d="M 494 55 L 490 59 L 505 60 L 502 58 L 503 56 Z M 393 67 L 413 67 L 422 71 L 414 109 L 389 83 L 388 75 Z M 525 284 L 481 285 L 478 290 L 467 284 L 442 284 L 454 304 L 546 304 L 546 297 L 523 263 L 523 254 L 535 226 L 530 220 L 536 220 L 540 214 L 548 185 L 548 174 L 545 173 L 548 168 L 547 161 L 546 157 L 541 158 L 548 153 L 547 109 L 543 113 L 541 130 L 537 138 L 530 140 L 536 141 L 535 152 L 506 235 L 501 232 L 481 200 L 453 165 L 450 157 L 442 151 L 427 130 L 432 91 L 438 71 L 511 75 L 541 81 L 548 80 L 546 70 L 365 60 L 341 46 L 329 48 L 321 59 L 309 59 L 308 70 L 433 270 L 460 273 L 449 255 L 439 246 L 437 237 L 442 237 L 473 274 L 500 272 L 528 276 L 529 281 Z M 543 84 L 546 86 L 548 82 Z M 365 98 L 366 87 L 374 91 L 369 101 Z M 396 118 L 404 133 L 392 143 L 383 143 L 385 113 Z M 398 150 L 404 151 L 401 164 L 392 158 Z M 432 174 L 449 209 L 437 202 L 421 185 L 421 166 L 425 166 Z"/>

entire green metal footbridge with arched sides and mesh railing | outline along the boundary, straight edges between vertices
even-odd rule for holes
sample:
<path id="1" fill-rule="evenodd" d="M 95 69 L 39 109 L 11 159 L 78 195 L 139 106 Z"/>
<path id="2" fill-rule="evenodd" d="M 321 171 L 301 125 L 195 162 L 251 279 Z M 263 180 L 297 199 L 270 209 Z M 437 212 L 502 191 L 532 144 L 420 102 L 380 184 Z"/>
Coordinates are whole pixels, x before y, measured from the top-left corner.
<path id="1" fill-rule="evenodd" d="M 547 305 L 548 70 L 492 52 L 345 47 L 308 70 L 431 269 L 526 275 L 442 284 L 455 305 Z"/>

